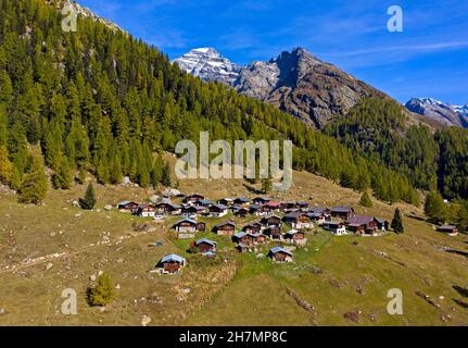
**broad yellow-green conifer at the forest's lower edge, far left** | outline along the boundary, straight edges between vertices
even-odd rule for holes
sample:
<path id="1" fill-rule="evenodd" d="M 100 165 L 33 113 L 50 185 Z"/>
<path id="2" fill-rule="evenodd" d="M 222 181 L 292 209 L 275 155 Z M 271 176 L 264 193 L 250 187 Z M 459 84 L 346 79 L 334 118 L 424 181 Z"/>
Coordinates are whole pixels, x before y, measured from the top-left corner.
<path id="1" fill-rule="evenodd" d="M 33 158 L 33 163 L 22 179 L 18 200 L 23 203 L 39 204 L 46 198 L 47 186 L 43 164 L 38 158 Z"/>

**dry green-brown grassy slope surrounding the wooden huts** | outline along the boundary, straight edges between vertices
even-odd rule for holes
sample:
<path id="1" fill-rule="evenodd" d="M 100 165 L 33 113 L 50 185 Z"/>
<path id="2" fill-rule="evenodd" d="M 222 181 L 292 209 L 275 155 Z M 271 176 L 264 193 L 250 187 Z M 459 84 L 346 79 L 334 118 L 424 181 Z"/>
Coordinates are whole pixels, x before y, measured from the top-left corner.
<path id="1" fill-rule="evenodd" d="M 186 181 L 180 186 L 182 191 L 199 191 L 213 199 L 252 196 L 241 181 Z M 220 254 L 227 260 L 210 263 L 185 253 L 190 241 L 174 239 L 172 221 L 155 225 L 154 232 L 136 233 L 131 224 L 140 219 L 72 208 L 71 200 L 84 191 L 84 186 L 51 191 L 45 207 L 24 207 L 11 192 L 0 190 L 0 308 L 7 310 L 0 315 L 0 325 L 138 325 L 143 315 L 151 316 L 154 325 L 346 325 L 353 323 L 343 314 L 357 310 L 365 325 L 468 323 L 468 309 L 453 300 L 468 302 L 453 289 L 454 285 L 467 285 L 468 260 L 439 249 L 450 246 L 468 251 L 466 236 L 440 235 L 414 219 L 405 219 L 407 233 L 403 236 L 331 237 L 319 232 L 309 236 L 306 249 L 295 252 L 294 263 L 277 265 L 253 254 L 237 254 L 228 237 L 208 233 L 219 241 Z M 105 203 L 141 200 L 153 194 L 122 187 L 98 187 L 97 191 L 101 209 Z M 374 209 L 364 211 L 357 207 L 358 194 L 307 173 L 294 173 L 293 188 L 277 198 L 307 200 L 309 196 L 315 204 L 354 204 L 361 213 L 389 220 L 395 208 L 376 201 Z M 413 207 L 400 207 L 406 213 L 420 214 Z M 76 217 L 77 213 L 81 216 Z M 110 244 L 101 244 L 103 232 L 110 233 Z M 163 247 L 149 247 L 156 240 L 163 240 Z M 159 259 L 172 251 L 189 258 L 184 273 L 150 274 Z M 24 264 L 27 259 L 56 252 L 66 254 Z M 53 265 L 46 270 L 49 262 Z M 313 265 L 322 273 L 314 273 Z M 86 288 L 92 284 L 89 276 L 100 270 L 107 271 L 121 286 L 117 300 L 104 312 L 89 308 L 85 300 Z M 60 312 L 61 291 L 67 287 L 78 293 L 78 315 Z M 404 294 L 402 316 L 390 316 L 385 311 L 387 291 L 394 287 Z M 184 291 L 187 288 L 190 293 Z M 314 312 L 298 306 L 287 288 L 309 302 Z M 440 303 L 441 310 L 416 296 L 417 290 Z M 445 314 L 451 315 L 447 322 L 441 319 Z"/>

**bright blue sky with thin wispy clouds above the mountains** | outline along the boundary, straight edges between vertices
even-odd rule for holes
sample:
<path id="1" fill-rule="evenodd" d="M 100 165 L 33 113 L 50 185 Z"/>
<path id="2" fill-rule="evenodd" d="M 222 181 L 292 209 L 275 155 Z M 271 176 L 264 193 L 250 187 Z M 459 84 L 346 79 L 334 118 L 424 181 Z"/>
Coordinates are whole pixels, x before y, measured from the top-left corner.
<path id="1" fill-rule="evenodd" d="M 466 0 L 79 0 L 170 59 L 214 47 L 231 61 L 269 60 L 292 47 L 401 102 L 433 97 L 468 103 Z M 390 5 L 404 32 L 390 33 Z"/>

